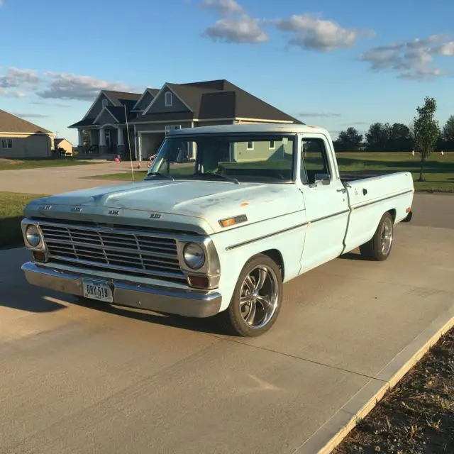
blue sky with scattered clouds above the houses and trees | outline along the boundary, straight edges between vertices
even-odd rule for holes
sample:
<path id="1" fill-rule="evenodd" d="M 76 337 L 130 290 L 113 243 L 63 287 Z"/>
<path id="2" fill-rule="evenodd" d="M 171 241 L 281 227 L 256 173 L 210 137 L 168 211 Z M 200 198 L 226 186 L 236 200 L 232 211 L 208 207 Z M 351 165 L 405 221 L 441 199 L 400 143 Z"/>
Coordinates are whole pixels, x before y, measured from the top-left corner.
<path id="1" fill-rule="evenodd" d="M 99 89 L 228 79 L 302 121 L 454 114 L 454 2 L 0 0 L 0 109 L 77 145 Z"/>

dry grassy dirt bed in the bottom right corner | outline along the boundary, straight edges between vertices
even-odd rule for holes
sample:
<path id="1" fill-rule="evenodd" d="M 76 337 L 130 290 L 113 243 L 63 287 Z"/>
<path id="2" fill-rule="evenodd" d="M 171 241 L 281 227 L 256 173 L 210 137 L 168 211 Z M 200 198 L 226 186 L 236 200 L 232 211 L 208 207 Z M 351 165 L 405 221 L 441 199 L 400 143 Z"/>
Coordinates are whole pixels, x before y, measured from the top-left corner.
<path id="1" fill-rule="evenodd" d="M 454 328 L 332 454 L 454 454 Z"/>

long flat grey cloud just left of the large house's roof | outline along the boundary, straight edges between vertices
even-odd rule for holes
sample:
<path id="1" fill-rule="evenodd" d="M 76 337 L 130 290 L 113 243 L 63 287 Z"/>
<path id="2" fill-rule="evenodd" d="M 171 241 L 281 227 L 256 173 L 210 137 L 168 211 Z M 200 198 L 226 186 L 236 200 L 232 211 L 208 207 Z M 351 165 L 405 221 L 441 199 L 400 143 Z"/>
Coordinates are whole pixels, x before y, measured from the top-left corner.
<path id="1" fill-rule="evenodd" d="M 48 79 L 45 88 L 36 92 L 41 98 L 49 99 L 77 99 L 91 101 L 100 90 L 116 90 L 118 92 L 131 91 L 131 87 L 122 82 L 108 82 L 96 77 L 79 76 L 62 72 L 44 72 Z"/>

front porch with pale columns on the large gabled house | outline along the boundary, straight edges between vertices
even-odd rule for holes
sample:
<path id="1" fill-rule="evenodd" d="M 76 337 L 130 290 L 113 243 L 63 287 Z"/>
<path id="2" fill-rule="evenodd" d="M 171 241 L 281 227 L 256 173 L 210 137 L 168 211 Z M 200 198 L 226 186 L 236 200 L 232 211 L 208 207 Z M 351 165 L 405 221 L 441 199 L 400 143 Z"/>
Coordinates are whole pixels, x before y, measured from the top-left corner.
<path id="1" fill-rule="evenodd" d="M 126 126 L 102 126 L 78 129 L 78 156 L 82 159 L 112 160 L 120 155 L 124 160 L 135 160 L 134 129 Z M 128 137 L 129 135 L 129 137 Z"/>

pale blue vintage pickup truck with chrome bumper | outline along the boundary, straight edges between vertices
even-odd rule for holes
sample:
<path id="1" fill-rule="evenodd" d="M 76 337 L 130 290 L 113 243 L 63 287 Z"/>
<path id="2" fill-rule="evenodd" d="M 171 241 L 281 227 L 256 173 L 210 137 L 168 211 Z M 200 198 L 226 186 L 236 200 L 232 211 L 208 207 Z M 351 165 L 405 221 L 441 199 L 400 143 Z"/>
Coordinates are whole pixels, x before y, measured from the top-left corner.
<path id="1" fill-rule="evenodd" d="M 28 204 L 22 270 L 40 287 L 259 336 L 284 282 L 358 247 L 386 260 L 413 196 L 410 172 L 341 174 L 322 128 L 173 130 L 142 181 Z"/>

